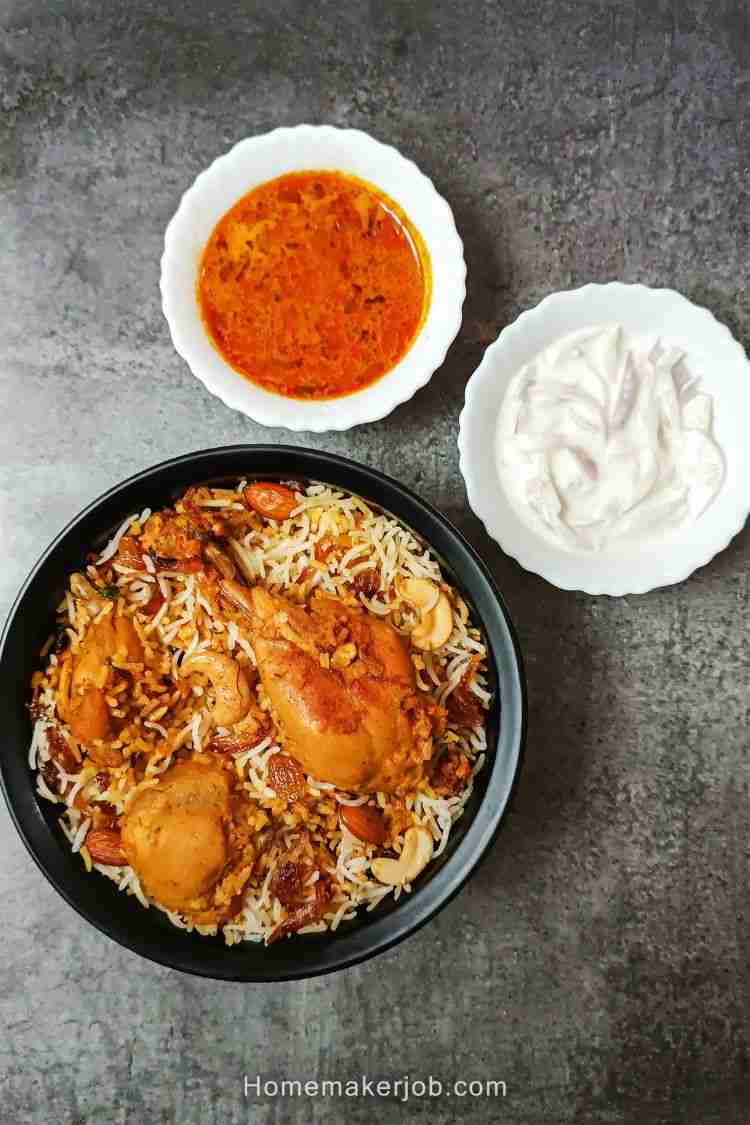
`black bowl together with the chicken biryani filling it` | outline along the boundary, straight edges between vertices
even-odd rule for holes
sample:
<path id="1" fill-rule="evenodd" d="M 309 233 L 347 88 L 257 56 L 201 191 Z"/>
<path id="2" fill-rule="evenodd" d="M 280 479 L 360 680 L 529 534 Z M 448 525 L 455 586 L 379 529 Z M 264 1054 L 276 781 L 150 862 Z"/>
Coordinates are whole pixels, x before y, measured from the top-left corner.
<path id="1" fill-rule="evenodd" d="M 0 646 L 2 784 L 84 918 L 162 964 L 299 979 L 458 892 L 517 777 L 507 610 L 460 533 L 332 454 L 180 457 L 89 505 Z"/>

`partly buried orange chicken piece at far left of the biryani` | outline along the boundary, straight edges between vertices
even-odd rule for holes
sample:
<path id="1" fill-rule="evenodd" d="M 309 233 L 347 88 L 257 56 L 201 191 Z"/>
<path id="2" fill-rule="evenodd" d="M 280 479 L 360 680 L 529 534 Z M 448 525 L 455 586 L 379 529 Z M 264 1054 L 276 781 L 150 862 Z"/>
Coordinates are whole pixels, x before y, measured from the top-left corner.
<path id="1" fill-rule="evenodd" d="M 112 659 L 137 664 L 143 658 L 130 618 L 109 614 L 89 627 L 78 652 L 67 657 L 57 693 L 57 709 L 80 742 L 110 735 L 105 695 L 112 682 Z"/>

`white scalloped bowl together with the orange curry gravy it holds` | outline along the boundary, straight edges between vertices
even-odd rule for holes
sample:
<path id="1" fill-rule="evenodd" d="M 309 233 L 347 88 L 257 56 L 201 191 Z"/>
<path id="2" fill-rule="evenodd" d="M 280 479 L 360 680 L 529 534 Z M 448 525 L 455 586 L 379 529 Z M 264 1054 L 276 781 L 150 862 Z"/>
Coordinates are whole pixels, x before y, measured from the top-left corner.
<path id="1" fill-rule="evenodd" d="M 241 141 L 186 192 L 161 290 L 172 341 L 227 406 L 263 425 L 385 417 L 461 325 L 449 205 L 395 148 L 300 125 Z"/>

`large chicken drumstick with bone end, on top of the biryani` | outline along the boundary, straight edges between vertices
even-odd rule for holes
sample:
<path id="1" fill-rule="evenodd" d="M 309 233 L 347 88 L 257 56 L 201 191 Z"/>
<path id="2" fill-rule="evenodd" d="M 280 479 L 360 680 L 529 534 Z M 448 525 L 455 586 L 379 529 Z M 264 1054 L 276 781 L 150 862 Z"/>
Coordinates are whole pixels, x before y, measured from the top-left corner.
<path id="1" fill-rule="evenodd" d="M 310 608 L 224 583 L 244 605 L 265 692 L 308 773 L 342 789 L 399 792 L 432 755 L 408 650 L 385 621 L 338 598 Z"/>

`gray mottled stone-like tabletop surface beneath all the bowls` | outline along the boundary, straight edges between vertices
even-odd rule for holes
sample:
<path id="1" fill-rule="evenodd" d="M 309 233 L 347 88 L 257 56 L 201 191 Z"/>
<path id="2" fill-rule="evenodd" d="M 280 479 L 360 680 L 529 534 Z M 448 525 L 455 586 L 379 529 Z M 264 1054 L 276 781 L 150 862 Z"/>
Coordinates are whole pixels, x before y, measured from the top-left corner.
<path id="1" fill-rule="evenodd" d="M 243 988 L 139 961 L 57 898 L 3 810 L 2 1120 L 744 1125 L 750 537 L 674 590 L 558 592 L 467 513 L 454 438 L 484 345 L 553 289 L 674 286 L 750 342 L 747 3 L 4 0 L 0 26 L 0 610 L 116 480 L 282 440 L 173 353 L 162 233 L 237 138 L 331 122 L 434 178 L 469 297 L 410 404 L 291 441 L 449 512 L 508 597 L 531 690 L 523 783 L 490 860 L 427 929 L 328 980 Z M 362 1071 L 494 1077 L 507 1098 L 242 1096 L 246 1072 Z"/>

